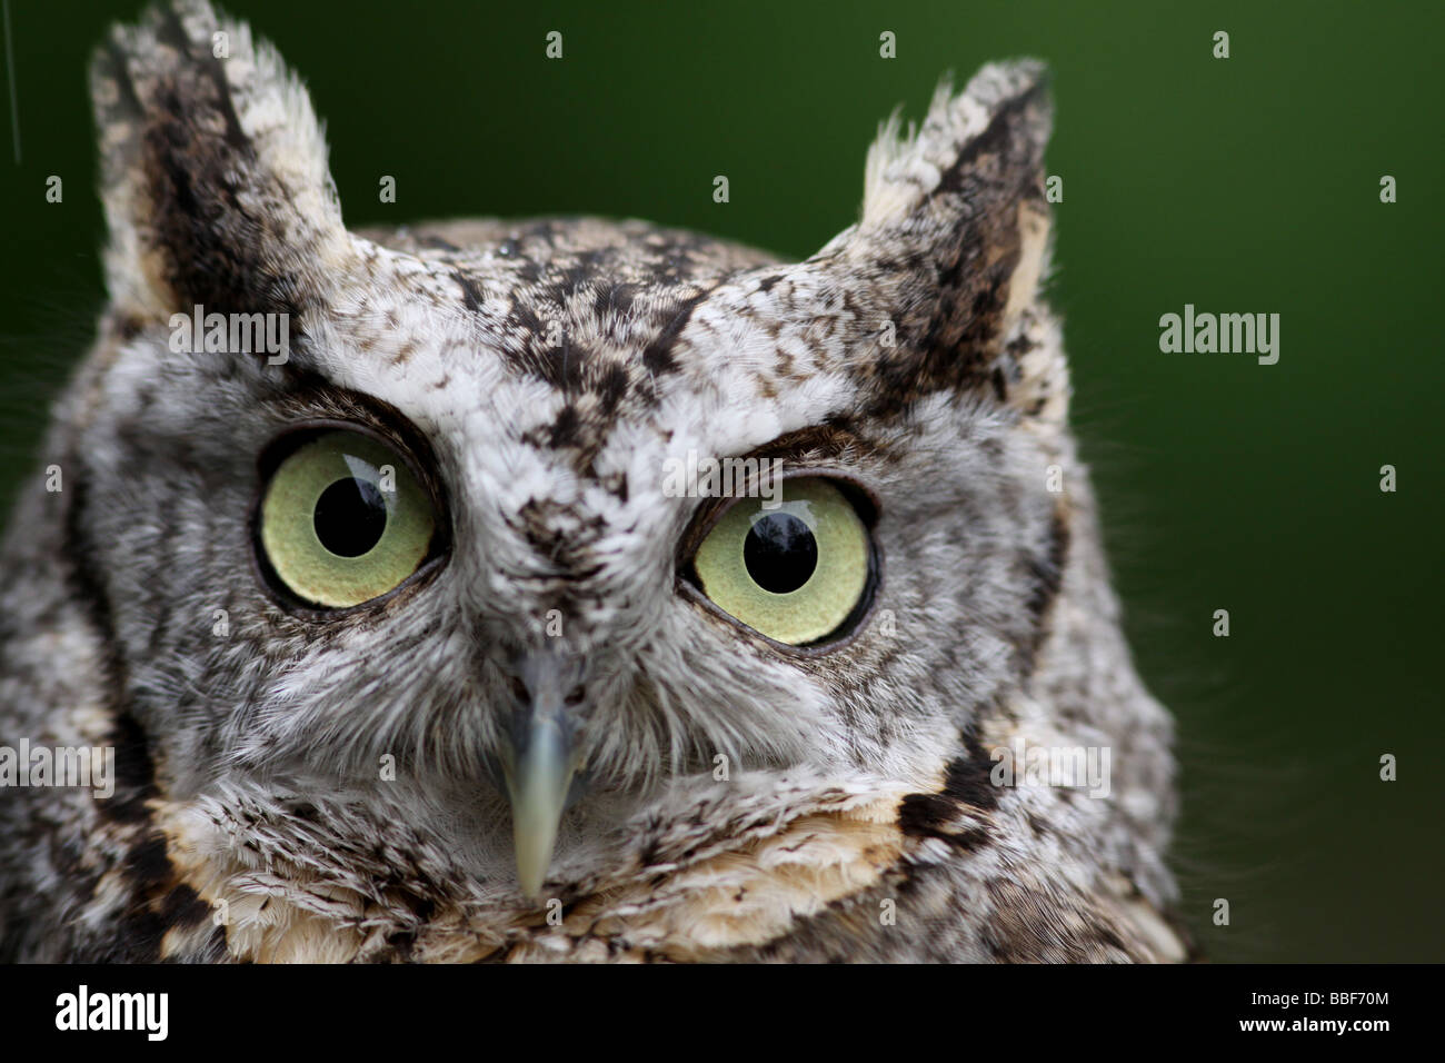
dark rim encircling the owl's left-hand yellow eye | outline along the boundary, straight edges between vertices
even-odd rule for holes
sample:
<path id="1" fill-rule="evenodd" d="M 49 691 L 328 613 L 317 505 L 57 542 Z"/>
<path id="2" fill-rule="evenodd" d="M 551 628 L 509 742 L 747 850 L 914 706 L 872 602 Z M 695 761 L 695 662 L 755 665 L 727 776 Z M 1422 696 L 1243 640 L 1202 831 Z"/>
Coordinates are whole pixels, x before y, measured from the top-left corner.
<path id="1" fill-rule="evenodd" d="M 397 480 L 406 483 L 409 493 L 426 506 L 431 534 L 416 567 L 396 581 L 394 586 L 389 586 L 384 592 L 354 603 L 325 605 L 298 593 L 277 570 L 263 541 L 264 513 L 276 473 L 282 466 L 309 444 L 340 434 L 358 437 L 358 447 L 363 450 L 384 453 L 387 458 L 396 458 Z M 425 438 L 415 430 L 393 432 L 367 422 L 338 418 L 314 418 L 290 425 L 262 448 L 256 464 L 257 480 L 249 521 L 251 570 L 276 605 L 293 616 L 311 620 L 331 620 L 353 613 L 373 612 L 402 594 L 415 593 L 423 581 L 429 581 L 445 565 L 451 555 L 451 519 L 441 483 L 429 471 L 434 463 L 423 464 L 418 460 L 418 454 L 431 457 L 431 448 L 426 445 Z M 334 480 L 329 486 L 334 487 L 338 482 Z M 316 500 L 319 500 L 319 496 Z M 389 525 L 390 516 L 387 518 L 387 528 Z M 360 557 L 368 555 L 363 552 Z M 340 560 L 351 558 L 341 554 Z"/>

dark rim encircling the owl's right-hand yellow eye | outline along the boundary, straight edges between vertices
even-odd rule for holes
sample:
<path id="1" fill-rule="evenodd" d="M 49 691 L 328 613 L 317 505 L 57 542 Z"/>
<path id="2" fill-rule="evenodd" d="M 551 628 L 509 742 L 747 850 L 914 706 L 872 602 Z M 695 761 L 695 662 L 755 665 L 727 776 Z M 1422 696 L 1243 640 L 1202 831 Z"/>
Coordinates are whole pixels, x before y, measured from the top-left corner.
<path id="1" fill-rule="evenodd" d="M 678 593 L 696 603 L 705 612 L 727 620 L 733 626 L 746 631 L 754 639 L 760 639 L 779 652 L 789 657 L 816 658 L 837 652 L 850 645 L 866 628 L 867 619 L 879 600 L 883 586 L 883 551 L 879 547 L 876 524 L 880 513 L 877 496 L 848 471 L 832 467 L 792 469 L 782 473 L 782 480 L 816 480 L 834 489 L 851 506 L 855 519 L 863 531 L 863 550 L 866 558 L 866 577 L 857 594 L 857 600 L 842 619 L 819 638 L 805 642 L 786 642 L 773 638 L 764 631 L 747 623 L 747 620 L 730 613 L 720 606 L 704 589 L 704 581 L 698 573 L 696 554 L 708 537 L 718 525 L 728 518 L 736 506 L 754 503 L 751 498 L 711 498 L 707 499 L 689 522 L 678 542 Z"/>

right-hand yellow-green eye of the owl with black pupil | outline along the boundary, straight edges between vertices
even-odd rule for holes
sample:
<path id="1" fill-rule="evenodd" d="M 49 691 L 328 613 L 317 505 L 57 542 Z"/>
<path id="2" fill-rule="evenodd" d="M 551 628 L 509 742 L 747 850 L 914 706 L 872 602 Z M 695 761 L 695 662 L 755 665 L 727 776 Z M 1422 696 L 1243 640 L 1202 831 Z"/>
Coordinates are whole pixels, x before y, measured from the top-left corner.
<path id="1" fill-rule="evenodd" d="M 828 480 L 782 483 L 780 503 L 736 502 L 698 547 L 692 568 L 725 613 L 801 646 L 835 633 L 858 607 L 871 550 L 858 512 Z"/>

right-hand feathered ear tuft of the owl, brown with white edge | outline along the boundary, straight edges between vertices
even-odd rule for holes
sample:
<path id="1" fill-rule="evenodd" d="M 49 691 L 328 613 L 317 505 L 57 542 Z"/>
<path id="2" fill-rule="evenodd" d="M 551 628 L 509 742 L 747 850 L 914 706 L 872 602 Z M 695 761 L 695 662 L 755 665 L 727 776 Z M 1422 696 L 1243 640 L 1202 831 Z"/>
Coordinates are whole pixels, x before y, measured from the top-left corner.
<path id="1" fill-rule="evenodd" d="M 1030 59 L 984 67 L 961 94 L 945 81 L 919 129 L 905 133 L 897 114 L 881 127 L 858 224 L 805 263 L 896 330 L 896 346 L 867 347 L 874 402 L 987 386 L 1062 415 L 1058 337 L 1033 309 L 1048 269 L 1049 127 L 1046 71 Z M 1030 357 L 1042 346 L 1053 353 Z"/>

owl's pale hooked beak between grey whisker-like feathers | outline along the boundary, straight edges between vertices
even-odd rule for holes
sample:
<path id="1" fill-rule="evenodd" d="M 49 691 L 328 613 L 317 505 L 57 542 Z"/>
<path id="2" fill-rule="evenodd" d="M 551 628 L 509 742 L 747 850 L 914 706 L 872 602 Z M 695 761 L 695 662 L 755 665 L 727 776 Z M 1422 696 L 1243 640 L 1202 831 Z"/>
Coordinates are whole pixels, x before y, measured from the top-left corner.
<path id="1" fill-rule="evenodd" d="M 513 716 L 512 755 L 503 758 L 503 771 L 512 798 L 517 884 L 523 894 L 536 897 L 552 865 L 558 826 L 579 767 L 574 738 L 582 662 L 561 654 L 527 654 L 517 661 L 516 673 L 526 697 Z"/>

